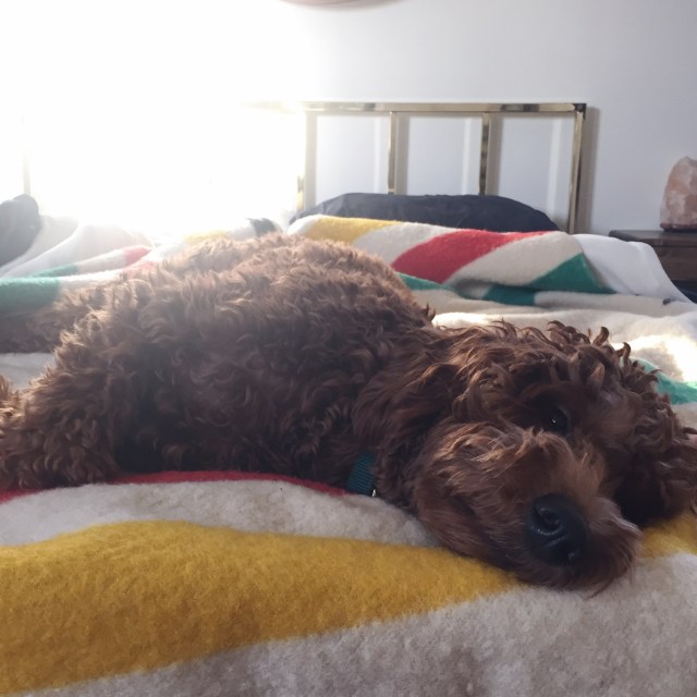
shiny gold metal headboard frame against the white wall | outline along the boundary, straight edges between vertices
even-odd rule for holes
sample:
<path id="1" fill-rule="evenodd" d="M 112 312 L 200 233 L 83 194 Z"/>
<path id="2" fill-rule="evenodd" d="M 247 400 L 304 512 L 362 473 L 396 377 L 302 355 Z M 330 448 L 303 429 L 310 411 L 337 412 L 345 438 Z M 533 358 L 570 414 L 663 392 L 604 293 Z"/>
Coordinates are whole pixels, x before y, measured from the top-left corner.
<path id="1" fill-rule="evenodd" d="M 310 139 L 313 130 L 310 118 L 330 114 L 365 114 L 381 113 L 389 115 L 389 148 L 388 148 L 388 182 L 390 194 L 396 191 L 396 166 L 399 160 L 398 131 L 401 115 L 473 115 L 481 119 L 481 145 L 479 155 L 479 193 L 488 191 L 489 183 L 489 150 L 492 118 L 501 114 L 574 114 L 574 135 L 572 145 L 571 178 L 568 186 L 568 215 L 566 230 L 575 232 L 578 213 L 580 164 L 583 152 L 584 124 L 586 120 L 586 105 L 576 102 L 540 102 L 540 103 L 493 103 L 493 102 L 390 102 L 390 101 L 259 101 L 245 105 L 254 109 L 270 109 L 279 112 L 304 114 L 305 159 L 302 171 L 297 175 L 297 207 L 305 207 L 306 182 L 309 154 L 313 151 Z"/>

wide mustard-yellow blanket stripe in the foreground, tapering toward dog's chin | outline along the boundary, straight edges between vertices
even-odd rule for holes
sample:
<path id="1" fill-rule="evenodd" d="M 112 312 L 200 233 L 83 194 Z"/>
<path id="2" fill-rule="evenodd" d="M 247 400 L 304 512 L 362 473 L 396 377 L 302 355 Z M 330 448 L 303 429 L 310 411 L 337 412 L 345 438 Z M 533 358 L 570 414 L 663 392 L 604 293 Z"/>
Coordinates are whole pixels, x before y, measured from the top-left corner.
<path id="1" fill-rule="evenodd" d="M 0 693 L 148 670 L 515 585 L 444 550 L 191 523 L 0 549 Z"/>

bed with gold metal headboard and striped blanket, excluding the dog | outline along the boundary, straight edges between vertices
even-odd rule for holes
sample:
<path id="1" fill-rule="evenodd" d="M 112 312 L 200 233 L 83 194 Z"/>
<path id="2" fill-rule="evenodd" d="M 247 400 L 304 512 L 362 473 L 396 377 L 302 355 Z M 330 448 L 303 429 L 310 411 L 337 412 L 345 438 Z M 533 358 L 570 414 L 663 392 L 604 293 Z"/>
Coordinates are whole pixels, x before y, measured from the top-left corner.
<path id="1" fill-rule="evenodd" d="M 310 114 L 320 107 L 352 111 L 343 102 L 305 107 Z M 398 106 L 384 107 L 399 121 Z M 479 114 L 474 107 L 450 105 L 445 113 L 470 118 Z M 497 114 L 545 113 L 543 105 L 514 107 L 480 105 L 477 118 L 486 126 Z M 347 189 L 314 200 L 304 171 L 303 210 L 285 232 L 381 256 L 440 325 L 504 318 L 539 328 L 551 319 L 584 330 L 606 326 L 613 341 L 629 342 L 661 370 L 658 389 L 697 427 L 695 305 L 646 245 L 558 229 L 573 230 L 578 212 L 585 106 L 566 107 L 572 157 L 563 222 L 500 200 L 497 215 L 510 216 L 505 231 L 455 229 L 432 217 L 443 206 L 430 197 L 427 221 L 395 219 L 400 206 L 426 194 L 388 183 L 369 196 Z M 443 112 L 442 105 L 405 107 L 419 109 Z M 478 164 L 499 147 L 491 133 L 489 121 Z M 390 157 L 389 179 L 399 182 L 400 157 L 393 149 Z M 478 179 L 475 196 L 496 197 L 486 176 Z M 473 212 L 477 200 L 466 194 L 449 196 L 449 212 L 455 206 L 470 220 L 491 215 Z M 526 228 L 533 213 L 545 218 Z M 200 236 L 245 239 L 267 229 L 249 220 Z M 119 229 L 66 230 L 59 244 L 29 249 L 0 270 L 3 321 L 50 303 L 62 288 L 158 264 L 200 236 L 154 246 Z M 0 374 L 21 386 L 47 363 L 48 355 L 4 354 Z M 138 475 L 0 492 L 0 695 L 696 694 L 692 514 L 647 529 L 634 573 L 592 595 L 526 586 L 455 557 L 377 498 L 234 469 Z"/>

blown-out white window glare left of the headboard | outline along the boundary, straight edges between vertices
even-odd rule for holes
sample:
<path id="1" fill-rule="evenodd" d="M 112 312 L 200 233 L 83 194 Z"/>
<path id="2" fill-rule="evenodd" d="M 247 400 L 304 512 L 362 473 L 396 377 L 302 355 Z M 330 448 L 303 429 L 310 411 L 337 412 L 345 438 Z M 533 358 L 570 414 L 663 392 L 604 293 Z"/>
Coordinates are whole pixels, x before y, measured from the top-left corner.
<path id="1" fill-rule="evenodd" d="M 11 112 L 0 124 L 3 198 L 21 192 L 25 147 L 44 212 L 160 234 L 294 205 L 294 124 L 269 127 L 236 109 L 248 99 L 293 98 L 311 51 L 288 51 L 303 19 L 293 5 L 12 5 L 5 20 L 14 30 L 0 49 L 13 65 Z"/>

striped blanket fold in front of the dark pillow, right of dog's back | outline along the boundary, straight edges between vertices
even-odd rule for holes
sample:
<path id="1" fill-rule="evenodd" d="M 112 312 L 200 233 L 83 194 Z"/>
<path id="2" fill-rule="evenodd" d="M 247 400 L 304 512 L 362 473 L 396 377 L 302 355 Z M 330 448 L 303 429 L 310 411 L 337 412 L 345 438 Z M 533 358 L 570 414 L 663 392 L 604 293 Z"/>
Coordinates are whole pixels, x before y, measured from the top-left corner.
<path id="1" fill-rule="evenodd" d="M 353 244 L 404 274 L 506 305 L 607 307 L 613 293 L 687 301 L 648 245 L 602 235 L 496 233 L 331 216 L 302 218 L 289 232 Z"/>

